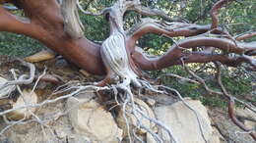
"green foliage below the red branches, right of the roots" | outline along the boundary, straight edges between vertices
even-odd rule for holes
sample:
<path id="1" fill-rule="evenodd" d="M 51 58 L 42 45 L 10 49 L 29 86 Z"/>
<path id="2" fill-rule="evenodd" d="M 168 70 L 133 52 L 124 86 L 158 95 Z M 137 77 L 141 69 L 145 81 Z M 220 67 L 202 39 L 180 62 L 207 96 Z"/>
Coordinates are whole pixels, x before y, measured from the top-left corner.
<path id="1" fill-rule="evenodd" d="M 195 69 L 198 69 L 198 67 L 201 66 L 190 66 L 190 68 L 194 71 Z M 188 75 L 188 73 L 184 71 L 182 67 L 171 67 L 163 71 L 155 71 L 153 74 L 154 77 L 158 77 L 160 74 L 168 72 L 191 78 L 191 76 Z M 215 72 L 205 70 L 202 72 L 200 71 L 198 75 L 206 80 L 206 84 L 211 89 L 220 91 L 220 87 L 215 77 Z M 222 80 L 228 93 L 237 98 L 242 99 L 247 94 L 253 94 L 253 91 L 255 91 L 255 85 L 253 85 L 253 83 L 255 83 L 255 78 L 241 71 L 223 71 Z M 218 95 L 210 95 L 201 85 L 196 83 L 186 82 L 174 77 L 164 77 L 162 78 L 162 83 L 177 89 L 185 97 L 201 100 L 205 105 L 226 107 L 223 97 L 219 97 Z M 255 100 L 255 98 L 253 98 L 253 100 Z"/>

